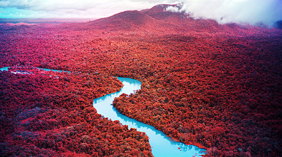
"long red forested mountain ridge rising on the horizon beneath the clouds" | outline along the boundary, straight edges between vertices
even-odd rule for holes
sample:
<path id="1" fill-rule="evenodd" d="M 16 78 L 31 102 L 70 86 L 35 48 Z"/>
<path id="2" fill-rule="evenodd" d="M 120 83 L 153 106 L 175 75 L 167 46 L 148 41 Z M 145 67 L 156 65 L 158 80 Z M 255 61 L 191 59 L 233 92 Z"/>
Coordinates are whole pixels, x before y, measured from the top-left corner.
<path id="1" fill-rule="evenodd" d="M 97 19 L 86 23 L 63 24 L 73 30 L 103 30 L 103 31 L 134 31 L 160 33 L 232 33 L 243 31 L 247 34 L 250 25 L 242 26 L 235 23 L 218 24 L 213 19 L 194 19 L 184 12 L 166 11 L 169 6 L 177 4 L 158 4 L 141 11 L 123 11 L 110 17 Z M 254 29 L 254 28 L 252 28 Z M 258 29 L 258 28 L 255 28 Z"/>

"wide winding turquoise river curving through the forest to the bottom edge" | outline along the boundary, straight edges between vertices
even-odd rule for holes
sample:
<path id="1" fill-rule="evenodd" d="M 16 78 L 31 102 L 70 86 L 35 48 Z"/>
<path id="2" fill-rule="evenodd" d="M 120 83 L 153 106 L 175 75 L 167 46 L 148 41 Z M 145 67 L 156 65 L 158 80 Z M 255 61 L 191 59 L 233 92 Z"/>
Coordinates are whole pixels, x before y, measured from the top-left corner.
<path id="1" fill-rule="evenodd" d="M 141 82 L 139 80 L 119 77 L 118 79 L 124 84 L 119 92 L 94 99 L 93 106 L 98 114 L 111 120 L 119 120 L 123 125 L 128 125 L 128 128 L 136 128 L 138 131 L 145 132 L 149 137 L 149 143 L 152 147 L 154 157 L 200 157 L 201 155 L 205 155 L 205 149 L 175 142 L 153 126 L 144 124 L 136 119 L 128 118 L 117 111 L 111 105 L 115 97 L 118 97 L 122 93 L 134 93 L 134 90 L 141 89 Z"/>

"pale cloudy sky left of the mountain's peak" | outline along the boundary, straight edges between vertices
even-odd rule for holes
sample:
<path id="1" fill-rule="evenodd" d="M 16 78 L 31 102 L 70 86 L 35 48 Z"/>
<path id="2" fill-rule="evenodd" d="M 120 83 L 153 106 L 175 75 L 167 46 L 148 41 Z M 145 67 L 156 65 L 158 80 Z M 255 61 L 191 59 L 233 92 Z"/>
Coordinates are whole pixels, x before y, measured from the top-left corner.
<path id="1" fill-rule="evenodd" d="M 101 18 L 126 10 L 141 10 L 159 3 L 178 3 L 176 0 L 0 0 L 0 14 L 16 17 Z M 0 12 L 1 13 L 1 12 Z"/>

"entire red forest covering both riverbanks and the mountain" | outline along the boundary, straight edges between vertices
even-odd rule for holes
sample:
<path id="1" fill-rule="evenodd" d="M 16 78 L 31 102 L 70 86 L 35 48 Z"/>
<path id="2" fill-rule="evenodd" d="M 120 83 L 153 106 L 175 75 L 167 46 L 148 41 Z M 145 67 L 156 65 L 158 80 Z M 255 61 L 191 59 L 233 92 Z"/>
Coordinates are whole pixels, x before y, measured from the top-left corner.
<path id="1" fill-rule="evenodd" d="M 0 154 L 152 156 L 148 137 L 101 118 L 93 99 L 206 156 L 282 156 L 282 30 L 225 24 L 157 5 L 75 24 L 0 25 Z M 49 68 L 71 73 L 44 72 Z"/>

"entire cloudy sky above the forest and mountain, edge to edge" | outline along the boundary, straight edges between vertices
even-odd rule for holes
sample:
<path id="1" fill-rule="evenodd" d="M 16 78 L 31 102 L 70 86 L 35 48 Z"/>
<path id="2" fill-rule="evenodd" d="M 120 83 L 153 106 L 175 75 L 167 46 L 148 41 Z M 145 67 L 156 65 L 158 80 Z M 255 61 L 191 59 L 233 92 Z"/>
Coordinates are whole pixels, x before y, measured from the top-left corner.
<path id="1" fill-rule="evenodd" d="M 166 11 L 185 12 L 219 23 L 263 23 L 282 20 L 282 0 L 0 0 L 0 18 L 108 17 L 126 10 L 142 10 L 156 4 L 179 4 Z"/>

